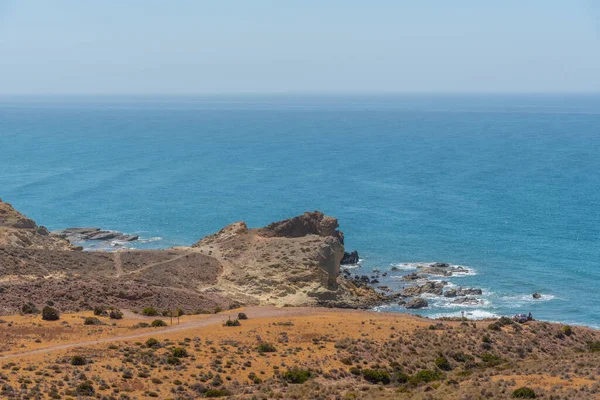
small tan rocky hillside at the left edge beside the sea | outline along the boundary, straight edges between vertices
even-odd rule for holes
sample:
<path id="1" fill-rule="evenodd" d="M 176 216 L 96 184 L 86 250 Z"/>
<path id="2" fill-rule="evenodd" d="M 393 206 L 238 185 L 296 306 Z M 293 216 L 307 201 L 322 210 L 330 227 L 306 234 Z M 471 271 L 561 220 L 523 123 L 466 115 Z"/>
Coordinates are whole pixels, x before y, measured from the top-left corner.
<path id="1" fill-rule="evenodd" d="M 19 248 L 72 250 L 66 240 L 49 235 L 48 230 L 38 226 L 9 203 L 0 199 L 0 246 Z"/>

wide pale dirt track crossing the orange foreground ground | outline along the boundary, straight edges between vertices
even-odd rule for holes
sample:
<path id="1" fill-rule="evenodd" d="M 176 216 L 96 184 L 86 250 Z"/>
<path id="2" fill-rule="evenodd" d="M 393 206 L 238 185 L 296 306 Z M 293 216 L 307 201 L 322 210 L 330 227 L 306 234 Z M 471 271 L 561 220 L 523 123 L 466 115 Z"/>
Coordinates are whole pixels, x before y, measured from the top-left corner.
<path id="1" fill-rule="evenodd" d="M 297 317 L 303 315 L 310 315 L 315 313 L 322 313 L 323 309 L 314 309 L 308 307 L 298 307 L 298 308 L 276 308 L 276 307 L 248 307 L 244 310 L 244 312 L 248 315 L 249 318 L 257 319 L 257 318 L 274 318 L 274 317 Z M 150 332 L 140 332 L 135 334 L 121 335 L 121 336 L 113 336 L 110 338 L 97 339 L 97 340 L 89 340 L 85 342 L 76 342 L 76 343 L 65 343 L 59 344 L 55 346 L 45 347 L 42 349 L 23 351 L 19 353 L 11 353 L 0 356 L 0 360 L 8 360 L 11 358 L 20 358 L 25 356 L 31 356 L 36 354 L 45 354 L 51 353 L 53 351 L 59 350 L 68 350 L 77 347 L 85 347 L 85 346 L 94 346 L 98 344 L 117 342 L 121 340 L 133 340 L 139 339 L 143 337 L 164 335 L 171 332 L 179 332 L 185 331 L 188 329 L 196 329 L 202 328 L 205 326 L 222 324 L 223 321 L 227 320 L 229 316 L 233 316 L 237 314 L 236 311 L 224 312 L 221 314 L 212 315 L 206 319 L 199 321 L 189 321 L 184 322 L 180 325 L 173 325 L 165 329 L 156 329 Z"/>

